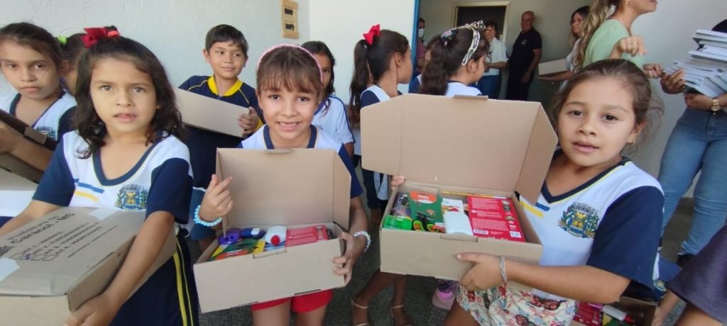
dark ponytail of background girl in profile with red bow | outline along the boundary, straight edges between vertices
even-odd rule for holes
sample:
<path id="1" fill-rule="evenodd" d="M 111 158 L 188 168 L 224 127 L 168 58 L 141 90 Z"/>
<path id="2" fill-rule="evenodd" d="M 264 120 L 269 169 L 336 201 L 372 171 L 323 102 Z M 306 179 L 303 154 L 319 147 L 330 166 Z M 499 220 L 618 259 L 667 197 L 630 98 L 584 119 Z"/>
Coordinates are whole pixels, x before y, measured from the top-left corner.
<path id="1" fill-rule="evenodd" d="M 374 41 L 369 44 L 365 39 L 356 42 L 353 48 L 353 78 L 351 78 L 348 102 L 350 107 L 350 126 L 361 123 L 361 93 L 369 83 L 377 83 L 379 78 L 389 69 L 389 61 L 394 53 L 406 55 L 409 41 L 393 30 L 381 30 Z"/>

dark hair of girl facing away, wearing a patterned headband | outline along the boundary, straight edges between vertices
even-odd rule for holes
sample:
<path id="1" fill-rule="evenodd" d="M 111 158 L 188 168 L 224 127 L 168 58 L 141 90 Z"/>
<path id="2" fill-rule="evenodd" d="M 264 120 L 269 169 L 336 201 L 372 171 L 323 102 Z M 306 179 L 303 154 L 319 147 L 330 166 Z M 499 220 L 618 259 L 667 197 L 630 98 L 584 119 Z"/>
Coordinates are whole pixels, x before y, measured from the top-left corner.
<path id="1" fill-rule="evenodd" d="M 441 34 L 433 39 L 430 59 L 422 71 L 422 88 L 419 89 L 419 94 L 446 94 L 447 81 L 462 67 L 462 59 L 465 58 L 474 38 L 473 30 L 454 28 L 451 31 L 454 36 L 447 40 L 442 39 Z M 480 42 L 470 60 L 477 62 L 481 57 L 487 55 L 489 44 L 482 31 L 476 30 L 474 33 L 480 33 Z"/>

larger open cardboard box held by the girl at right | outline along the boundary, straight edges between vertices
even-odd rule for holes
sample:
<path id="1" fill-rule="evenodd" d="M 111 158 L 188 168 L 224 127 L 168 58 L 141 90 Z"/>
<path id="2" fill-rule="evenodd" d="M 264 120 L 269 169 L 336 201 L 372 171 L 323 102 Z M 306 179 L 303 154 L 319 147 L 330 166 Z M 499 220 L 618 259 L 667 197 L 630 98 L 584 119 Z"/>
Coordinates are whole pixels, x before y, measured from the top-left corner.
<path id="1" fill-rule="evenodd" d="M 361 110 L 363 166 L 406 177 L 392 192 L 419 190 L 509 197 L 526 242 L 380 229 L 381 270 L 459 280 L 472 266 L 457 253 L 537 264 L 542 245 L 515 197 L 534 202 L 555 150 L 555 132 L 537 102 L 405 94 Z"/>

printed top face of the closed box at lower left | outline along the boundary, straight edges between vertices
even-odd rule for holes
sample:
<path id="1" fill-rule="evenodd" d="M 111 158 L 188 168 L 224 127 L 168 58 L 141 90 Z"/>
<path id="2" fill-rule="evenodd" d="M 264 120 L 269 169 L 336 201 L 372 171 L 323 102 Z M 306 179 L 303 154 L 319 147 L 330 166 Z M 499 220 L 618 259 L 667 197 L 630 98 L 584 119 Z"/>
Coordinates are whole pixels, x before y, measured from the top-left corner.
<path id="1" fill-rule="evenodd" d="M 119 230 L 137 230 L 144 222 L 143 212 L 114 211 L 114 214 L 123 217 L 113 219 L 113 223 L 105 223 L 105 217 L 111 215 L 106 213 L 108 211 L 59 208 L 50 213 L 47 219 L 32 221 L 30 227 L 16 229 L 1 237 L 0 261 L 5 267 L 0 273 L 0 293 L 21 296 L 65 295 L 94 266 L 108 258 L 108 248 L 118 248 L 129 241 L 128 233 Z M 107 215 L 97 221 L 64 223 L 66 219 L 74 219 L 74 216 L 102 216 L 101 213 Z M 55 231 L 45 231 L 47 229 Z M 33 237 L 40 232 L 52 234 L 44 239 Z M 88 245 L 89 238 L 93 239 L 93 245 Z M 21 245 L 26 240 L 33 241 L 33 244 Z M 52 268 L 48 267 L 49 264 L 52 264 Z"/>

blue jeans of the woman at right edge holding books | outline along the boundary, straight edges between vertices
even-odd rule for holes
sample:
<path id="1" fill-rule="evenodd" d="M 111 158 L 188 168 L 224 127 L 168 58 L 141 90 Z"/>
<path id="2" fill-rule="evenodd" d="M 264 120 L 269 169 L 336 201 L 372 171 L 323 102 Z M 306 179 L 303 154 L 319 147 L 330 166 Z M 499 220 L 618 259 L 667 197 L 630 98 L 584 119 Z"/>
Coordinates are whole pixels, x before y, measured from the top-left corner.
<path id="1" fill-rule="evenodd" d="M 702 171 L 694 188 L 694 216 L 682 253 L 696 254 L 725 224 L 727 214 L 727 114 L 687 109 L 674 127 L 662 156 L 664 227 L 680 197 Z"/>

